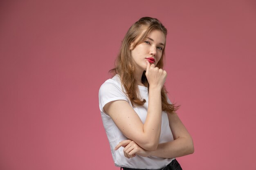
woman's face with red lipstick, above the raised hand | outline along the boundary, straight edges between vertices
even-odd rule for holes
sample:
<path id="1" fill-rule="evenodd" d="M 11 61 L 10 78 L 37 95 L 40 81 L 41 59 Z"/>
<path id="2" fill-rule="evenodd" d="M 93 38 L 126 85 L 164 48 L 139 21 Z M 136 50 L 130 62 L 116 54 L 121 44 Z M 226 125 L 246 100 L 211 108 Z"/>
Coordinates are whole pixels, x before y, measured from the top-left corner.
<path id="1" fill-rule="evenodd" d="M 136 71 L 146 71 L 147 63 L 157 64 L 162 57 L 164 49 L 165 36 L 160 30 L 153 30 L 149 33 L 145 42 L 137 45 L 132 50 L 132 58 L 135 62 Z M 131 44 L 131 48 L 133 43 Z"/>

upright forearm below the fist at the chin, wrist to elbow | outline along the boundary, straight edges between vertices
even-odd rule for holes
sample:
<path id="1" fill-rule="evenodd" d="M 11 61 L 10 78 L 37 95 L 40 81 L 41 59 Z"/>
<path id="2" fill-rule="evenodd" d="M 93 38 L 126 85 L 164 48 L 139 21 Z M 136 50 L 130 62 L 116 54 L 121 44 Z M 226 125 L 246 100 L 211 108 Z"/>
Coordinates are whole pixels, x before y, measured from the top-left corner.
<path id="1" fill-rule="evenodd" d="M 155 150 L 159 144 L 162 123 L 162 99 L 161 88 L 149 88 L 148 113 L 143 126 L 146 140 L 149 141 L 151 150 Z"/>

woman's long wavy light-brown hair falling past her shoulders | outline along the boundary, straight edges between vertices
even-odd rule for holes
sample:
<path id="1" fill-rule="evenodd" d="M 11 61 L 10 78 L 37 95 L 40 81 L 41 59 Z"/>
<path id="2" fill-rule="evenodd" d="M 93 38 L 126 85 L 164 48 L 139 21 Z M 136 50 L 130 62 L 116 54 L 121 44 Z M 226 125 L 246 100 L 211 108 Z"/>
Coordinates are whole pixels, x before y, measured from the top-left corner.
<path id="1" fill-rule="evenodd" d="M 130 99 L 133 106 L 144 105 L 146 100 L 141 99 L 141 97 L 138 95 L 139 89 L 135 79 L 135 63 L 132 59 L 131 51 L 137 45 L 143 43 L 148 37 L 149 33 L 156 29 L 162 31 L 166 38 L 167 29 L 156 18 L 143 17 L 143 18 L 140 18 L 137 22 L 135 22 L 127 31 L 126 35 L 124 36 L 124 39 L 121 44 L 121 49 L 115 61 L 115 68 L 109 71 L 110 73 L 112 73 L 112 76 L 116 74 L 119 75 L 121 79 L 121 84 L 125 88 L 124 93 L 126 93 L 126 95 Z M 135 40 L 137 41 L 135 42 Z M 132 46 L 132 49 L 130 49 L 131 43 L 134 43 L 134 45 Z M 162 57 L 159 60 L 159 62 L 156 64 L 156 67 L 158 68 L 164 67 L 165 44 L 164 44 L 164 49 L 162 51 Z M 144 71 L 142 74 L 141 82 L 146 87 L 148 87 L 148 90 L 149 90 L 149 83 L 145 73 L 146 71 Z M 175 113 L 175 111 L 178 110 L 179 106 L 175 106 L 174 104 L 168 103 L 167 91 L 165 86 L 162 87 L 161 97 L 162 97 L 162 110 L 166 111 L 167 113 Z"/>

